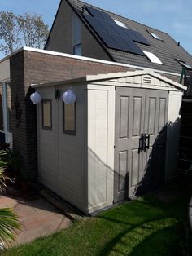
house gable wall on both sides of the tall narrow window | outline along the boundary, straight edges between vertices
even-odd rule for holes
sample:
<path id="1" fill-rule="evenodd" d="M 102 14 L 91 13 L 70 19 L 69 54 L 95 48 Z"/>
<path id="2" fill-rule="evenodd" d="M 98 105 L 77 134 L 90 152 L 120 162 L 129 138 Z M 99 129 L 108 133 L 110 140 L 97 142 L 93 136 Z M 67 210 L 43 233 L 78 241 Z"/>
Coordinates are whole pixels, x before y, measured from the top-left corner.
<path id="1" fill-rule="evenodd" d="M 112 60 L 85 24 L 81 22 L 81 25 L 82 55 L 100 60 Z M 66 1 L 61 2 L 46 50 L 72 54 L 72 7 Z"/>

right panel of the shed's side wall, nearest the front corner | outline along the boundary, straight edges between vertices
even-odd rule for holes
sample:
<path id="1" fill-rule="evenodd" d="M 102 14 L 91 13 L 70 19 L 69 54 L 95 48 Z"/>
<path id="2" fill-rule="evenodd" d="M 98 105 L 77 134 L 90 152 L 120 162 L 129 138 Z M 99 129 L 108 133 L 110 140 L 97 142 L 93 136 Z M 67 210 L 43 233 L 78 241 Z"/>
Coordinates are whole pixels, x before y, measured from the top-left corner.
<path id="1" fill-rule="evenodd" d="M 61 95 L 68 87 L 59 88 Z M 81 210 L 85 208 L 85 86 L 76 94 L 76 135 L 63 133 L 63 102 L 59 100 L 59 195 Z"/>

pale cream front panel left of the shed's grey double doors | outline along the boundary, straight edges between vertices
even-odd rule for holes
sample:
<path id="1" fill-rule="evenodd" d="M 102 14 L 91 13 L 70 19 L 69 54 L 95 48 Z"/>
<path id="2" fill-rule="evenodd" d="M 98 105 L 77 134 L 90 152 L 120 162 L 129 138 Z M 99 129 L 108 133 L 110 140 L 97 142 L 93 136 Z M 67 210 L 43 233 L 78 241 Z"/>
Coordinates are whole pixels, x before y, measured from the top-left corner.
<path id="1" fill-rule="evenodd" d="M 88 85 L 89 213 L 113 204 L 115 91 Z"/>

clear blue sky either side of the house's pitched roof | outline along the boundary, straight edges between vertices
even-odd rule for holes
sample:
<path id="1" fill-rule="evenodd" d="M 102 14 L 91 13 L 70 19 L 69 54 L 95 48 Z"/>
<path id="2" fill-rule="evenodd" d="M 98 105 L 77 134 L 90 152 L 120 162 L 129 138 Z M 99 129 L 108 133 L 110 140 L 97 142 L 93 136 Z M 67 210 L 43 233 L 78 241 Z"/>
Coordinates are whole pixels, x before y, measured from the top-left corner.
<path id="1" fill-rule="evenodd" d="M 59 0 L 0 0 L 0 11 L 43 15 L 51 26 Z M 85 0 L 97 7 L 123 15 L 155 29 L 169 33 L 192 55 L 191 0 Z M 110 3 L 110 4 L 109 4 Z M 0 55 L 1 57 L 1 55 Z"/>

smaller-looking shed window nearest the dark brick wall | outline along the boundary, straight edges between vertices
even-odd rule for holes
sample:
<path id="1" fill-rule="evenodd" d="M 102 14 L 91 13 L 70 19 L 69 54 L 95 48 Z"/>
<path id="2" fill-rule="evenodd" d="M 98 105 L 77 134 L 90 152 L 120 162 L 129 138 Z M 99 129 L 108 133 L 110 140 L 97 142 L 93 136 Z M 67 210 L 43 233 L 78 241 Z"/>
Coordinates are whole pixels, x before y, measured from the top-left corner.
<path id="1" fill-rule="evenodd" d="M 52 130 L 52 100 L 42 100 L 42 128 Z"/>

